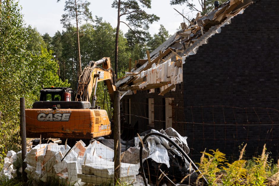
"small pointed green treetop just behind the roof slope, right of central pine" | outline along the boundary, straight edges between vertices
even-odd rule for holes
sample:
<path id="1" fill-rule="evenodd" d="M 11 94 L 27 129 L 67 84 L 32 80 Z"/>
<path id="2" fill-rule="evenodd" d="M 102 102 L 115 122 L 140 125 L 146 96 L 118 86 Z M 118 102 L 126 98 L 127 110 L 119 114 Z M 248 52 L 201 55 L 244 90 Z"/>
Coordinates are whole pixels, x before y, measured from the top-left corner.
<path id="1" fill-rule="evenodd" d="M 165 42 L 170 37 L 169 32 L 163 25 L 160 25 L 158 34 L 154 34 L 153 38 L 151 38 L 148 42 L 149 50 L 153 51 L 158 46 L 160 46 L 163 42 Z"/>

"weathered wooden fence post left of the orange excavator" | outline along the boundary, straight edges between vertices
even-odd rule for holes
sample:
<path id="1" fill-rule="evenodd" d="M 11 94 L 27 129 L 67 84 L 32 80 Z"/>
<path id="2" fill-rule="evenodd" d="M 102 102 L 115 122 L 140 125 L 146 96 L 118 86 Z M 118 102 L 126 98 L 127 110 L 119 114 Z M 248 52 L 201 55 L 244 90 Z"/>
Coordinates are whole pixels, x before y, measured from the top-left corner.
<path id="1" fill-rule="evenodd" d="M 25 127 L 25 99 L 20 98 L 20 138 L 21 138 L 21 158 L 22 158 L 22 175 L 27 179 L 27 174 L 24 171 L 27 163 L 23 162 L 26 155 L 26 127 Z"/>

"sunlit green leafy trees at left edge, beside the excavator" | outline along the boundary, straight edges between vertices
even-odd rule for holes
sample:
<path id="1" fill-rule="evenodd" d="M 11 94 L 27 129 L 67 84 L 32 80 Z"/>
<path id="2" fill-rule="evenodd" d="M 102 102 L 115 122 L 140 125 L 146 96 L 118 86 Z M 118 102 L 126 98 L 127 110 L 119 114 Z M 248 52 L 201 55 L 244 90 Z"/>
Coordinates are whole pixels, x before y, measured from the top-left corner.
<path id="1" fill-rule="evenodd" d="M 8 150 L 20 148 L 19 98 L 25 97 L 26 108 L 30 108 L 41 83 L 69 84 L 56 75 L 57 63 L 36 28 L 24 25 L 18 2 L 2 1 L 0 10 L 0 160 L 3 163 Z"/>

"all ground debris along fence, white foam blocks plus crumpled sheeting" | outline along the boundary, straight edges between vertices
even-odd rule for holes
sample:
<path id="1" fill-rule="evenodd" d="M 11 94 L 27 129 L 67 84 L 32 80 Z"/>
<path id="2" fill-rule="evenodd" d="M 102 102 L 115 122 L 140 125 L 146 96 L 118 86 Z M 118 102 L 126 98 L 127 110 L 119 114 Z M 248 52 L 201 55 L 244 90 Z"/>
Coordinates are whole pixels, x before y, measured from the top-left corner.
<path id="1" fill-rule="evenodd" d="M 162 133 L 168 136 L 186 153 L 189 153 L 187 137 L 180 136 L 173 128 L 160 132 L 155 130 L 148 132 Z M 135 137 L 132 140 L 133 147 L 121 154 L 121 180 L 129 184 L 144 185 L 142 177 L 139 175 L 139 147 L 142 145 L 143 137 L 144 134 Z M 38 144 L 26 154 L 24 162 L 27 163 L 27 168 L 25 172 L 29 179 L 42 182 L 58 179 L 61 183 L 66 184 L 85 185 L 85 183 L 91 183 L 101 185 L 113 182 L 113 157 L 114 151 L 96 140 L 87 147 L 81 140 L 72 148 L 56 143 Z M 181 181 L 190 172 L 190 163 L 183 155 L 166 139 L 155 135 L 146 140 L 142 159 L 146 169 L 145 174 L 150 173 L 147 178 L 152 182 L 158 181 L 161 172 L 168 174 L 170 179 L 178 181 Z M 22 172 L 21 152 L 9 151 L 4 160 L 5 164 L 1 176 L 11 179 Z M 19 162 L 19 166 L 16 166 L 17 162 Z M 154 171 L 151 171 L 153 169 Z M 163 176 L 162 184 L 167 180 Z"/>

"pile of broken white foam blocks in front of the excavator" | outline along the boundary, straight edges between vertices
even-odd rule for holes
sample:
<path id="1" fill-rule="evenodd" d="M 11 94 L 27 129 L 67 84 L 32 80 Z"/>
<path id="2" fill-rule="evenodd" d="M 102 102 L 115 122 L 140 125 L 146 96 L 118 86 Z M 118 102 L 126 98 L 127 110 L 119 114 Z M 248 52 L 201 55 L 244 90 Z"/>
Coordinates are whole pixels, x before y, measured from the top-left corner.
<path id="1" fill-rule="evenodd" d="M 5 159 L 1 175 L 9 179 L 17 176 L 17 170 L 13 169 L 13 164 L 21 159 L 20 153 L 8 152 L 9 160 Z M 26 154 L 25 172 L 28 178 L 43 182 L 58 179 L 61 183 L 67 184 L 100 185 L 113 182 L 113 157 L 113 150 L 98 141 L 85 147 L 83 141 L 80 140 L 72 149 L 68 145 L 56 143 L 38 144 Z M 121 164 L 121 180 L 139 185 L 137 174 L 139 174 L 138 165 Z"/>

